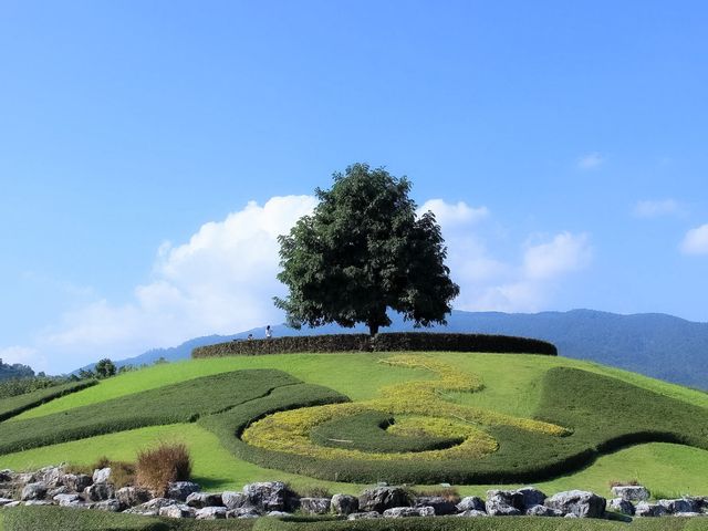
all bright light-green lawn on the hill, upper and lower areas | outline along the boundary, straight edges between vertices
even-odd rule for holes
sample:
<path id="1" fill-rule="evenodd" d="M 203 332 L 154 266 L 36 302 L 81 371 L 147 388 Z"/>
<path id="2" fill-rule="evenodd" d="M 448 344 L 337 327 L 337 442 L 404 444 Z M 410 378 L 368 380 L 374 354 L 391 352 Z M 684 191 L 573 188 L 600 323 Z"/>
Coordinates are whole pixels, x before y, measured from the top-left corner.
<path id="1" fill-rule="evenodd" d="M 571 367 L 611 376 L 621 382 L 652 391 L 663 397 L 680 400 L 681 404 L 708 408 L 708 395 L 680 386 L 653 381 L 624 371 L 600 365 L 546 356 L 507 356 L 494 354 L 452 354 L 439 353 L 435 356 L 448 363 L 455 363 L 460 371 L 478 374 L 485 383 L 479 393 L 452 393 L 448 398 L 458 404 L 476 407 L 489 407 L 510 415 L 531 417 L 544 399 L 544 377 L 555 367 Z M 290 373 L 304 382 L 323 384 L 351 396 L 355 400 L 377 396 L 385 385 L 434 377 L 426 371 L 385 367 L 377 361 L 381 354 L 302 354 L 250 356 L 218 360 L 200 360 L 184 363 L 159 365 L 148 369 L 127 373 L 102 382 L 98 386 L 59 398 L 52 403 L 27 412 L 21 417 L 44 417 L 52 413 L 65 412 L 76 406 L 100 404 L 107 399 L 127 396 L 137 389 L 153 388 L 188 381 L 208 374 L 220 374 L 241 368 L 273 368 Z M 613 379 L 613 382 L 616 382 Z M 683 407 L 683 406 L 681 406 Z M 10 420 L 2 426 L 10 427 L 20 420 Z M 155 431 L 150 431 L 155 430 Z M 85 441 L 38 448 L 25 452 L 0 456 L 0 468 L 31 468 L 34 465 L 48 465 L 61 460 L 73 461 L 81 456 L 92 455 L 82 462 L 93 459 L 93 449 L 103 448 L 102 454 L 124 458 L 133 456 L 136 449 L 154 439 L 168 437 L 173 427 L 146 428 L 111 436 L 94 437 Z M 183 431 L 192 446 L 196 471 L 201 481 L 214 489 L 240 488 L 246 482 L 266 479 L 287 479 L 296 485 L 322 485 L 332 490 L 357 492 L 361 486 L 332 483 L 312 480 L 303 476 L 280 470 L 269 470 L 230 458 L 218 442 L 218 438 L 201 429 L 200 426 L 176 426 L 173 433 Z M 111 439 L 118 437 L 118 439 Z M 112 442 L 111 442 L 112 441 Z M 105 445 L 102 447 L 102 445 Z M 71 451 L 70 451 L 71 448 Z M 114 456 L 119 454 L 121 456 Z M 75 458 L 72 456 L 76 456 Z M 656 457 L 660 457 L 657 459 Z M 592 466 L 577 472 L 543 481 L 539 486 L 546 492 L 568 488 L 587 488 L 607 492 L 607 482 L 616 479 L 639 479 L 649 488 L 664 492 L 706 493 L 708 492 L 708 452 L 678 445 L 641 445 L 623 449 L 616 454 L 602 456 Z M 76 461 L 79 462 L 79 461 Z M 201 465 L 199 465 L 201 464 Z M 25 466 L 23 466 L 25 465 Z M 201 470 L 201 471 L 199 471 Z M 485 485 L 466 486 L 461 493 L 480 493 Z M 211 488 L 211 487 L 208 487 Z"/>

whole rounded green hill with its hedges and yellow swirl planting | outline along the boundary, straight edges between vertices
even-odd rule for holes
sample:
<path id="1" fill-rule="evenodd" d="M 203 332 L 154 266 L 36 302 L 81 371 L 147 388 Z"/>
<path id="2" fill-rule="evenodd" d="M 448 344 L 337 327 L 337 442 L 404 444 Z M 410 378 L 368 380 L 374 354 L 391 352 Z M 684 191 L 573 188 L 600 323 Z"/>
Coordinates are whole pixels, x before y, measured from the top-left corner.
<path id="1" fill-rule="evenodd" d="M 282 409 L 294 412 L 251 423 Z M 395 424 L 376 428 L 379 417 L 372 414 Z M 371 437 L 354 441 L 352 423 L 340 421 L 346 418 Z M 303 423 L 299 438 L 270 435 Z M 195 477 L 210 490 L 282 479 L 358 492 L 377 479 L 449 478 L 462 494 L 523 481 L 548 492 L 608 496 L 611 481 L 636 479 L 659 496 L 705 494 L 707 426 L 706 393 L 564 357 L 240 356 L 125 373 L 19 413 L 0 425 L 0 469 L 90 465 L 102 456 L 132 460 L 139 449 L 174 439 L 190 447 Z M 362 446 L 371 441 L 375 447 Z M 423 445 L 413 467 L 410 445 Z M 467 465 L 452 466 L 456 460 Z"/>

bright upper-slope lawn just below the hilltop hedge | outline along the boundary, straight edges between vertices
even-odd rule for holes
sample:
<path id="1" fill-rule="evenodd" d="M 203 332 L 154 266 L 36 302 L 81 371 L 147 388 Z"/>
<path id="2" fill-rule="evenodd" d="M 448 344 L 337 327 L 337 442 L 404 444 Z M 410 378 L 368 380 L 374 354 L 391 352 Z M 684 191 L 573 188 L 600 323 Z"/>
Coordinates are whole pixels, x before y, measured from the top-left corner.
<path id="1" fill-rule="evenodd" d="M 396 353 L 391 355 L 394 354 Z M 428 355 L 440 357 L 441 361 L 456 364 L 461 371 L 481 376 L 485 389 L 472 394 L 451 394 L 450 397 L 455 402 L 488 407 L 516 416 L 528 417 L 535 412 L 541 397 L 543 374 L 559 366 L 613 376 L 673 398 L 708 407 L 707 393 L 577 360 L 516 354 L 431 353 Z M 435 378 L 433 373 L 425 369 L 392 367 L 378 363 L 378 360 L 386 356 L 387 354 L 384 353 L 282 354 L 160 364 L 103 381 L 95 387 L 30 409 L 12 420 L 50 415 L 199 376 L 243 368 L 277 368 L 303 382 L 335 389 L 354 402 L 377 396 L 378 389 L 385 385 L 410 379 Z"/>

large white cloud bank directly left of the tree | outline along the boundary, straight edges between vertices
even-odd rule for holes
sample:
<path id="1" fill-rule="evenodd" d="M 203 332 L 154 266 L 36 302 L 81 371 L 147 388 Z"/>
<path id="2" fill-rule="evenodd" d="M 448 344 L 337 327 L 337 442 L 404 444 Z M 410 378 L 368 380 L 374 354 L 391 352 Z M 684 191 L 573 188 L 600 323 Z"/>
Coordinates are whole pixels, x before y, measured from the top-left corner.
<path id="1" fill-rule="evenodd" d="M 53 368 L 74 368 L 98 357 L 123 358 L 205 334 L 229 334 L 275 323 L 282 314 L 278 236 L 310 214 L 311 196 L 249 202 L 225 220 L 205 223 L 188 242 L 163 243 L 153 280 L 135 288 L 129 303 L 98 300 L 63 315 L 39 347 Z"/>

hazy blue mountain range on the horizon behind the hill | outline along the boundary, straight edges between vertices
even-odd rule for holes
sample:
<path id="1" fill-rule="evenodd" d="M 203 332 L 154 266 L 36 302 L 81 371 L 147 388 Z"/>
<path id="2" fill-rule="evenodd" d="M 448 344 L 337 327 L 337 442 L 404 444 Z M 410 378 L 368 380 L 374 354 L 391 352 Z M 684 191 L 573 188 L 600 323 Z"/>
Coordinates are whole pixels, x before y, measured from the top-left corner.
<path id="1" fill-rule="evenodd" d="M 414 330 L 399 316 L 384 332 Z M 695 323 L 660 313 L 618 315 L 594 310 L 570 312 L 499 313 L 454 311 L 447 326 L 434 331 L 508 334 L 537 337 L 555 344 L 559 354 L 589 360 L 634 371 L 681 385 L 708 391 L 708 323 Z M 365 333 L 364 326 L 341 329 L 292 330 L 273 326 L 273 335 L 313 335 L 323 333 Z M 235 335 L 197 337 L 171 348 L 155 348 L 139 356 L 117 362 L 117 365 L 153 363 L 189 357 L 196 346 L 242 340 L 252 333 L 264 336 L 264 327 Z"/>

